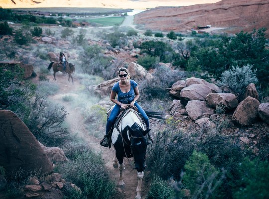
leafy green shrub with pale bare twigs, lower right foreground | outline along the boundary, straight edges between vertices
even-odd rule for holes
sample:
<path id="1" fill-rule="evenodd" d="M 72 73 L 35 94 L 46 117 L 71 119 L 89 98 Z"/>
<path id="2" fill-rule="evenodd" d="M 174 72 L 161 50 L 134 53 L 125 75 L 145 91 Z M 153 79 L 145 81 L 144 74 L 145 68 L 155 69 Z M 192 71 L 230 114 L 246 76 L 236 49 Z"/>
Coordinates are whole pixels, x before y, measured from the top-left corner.
<path id="1" fill-rule="evenodd" d="M 182 183 L 190 189 L 193 198 L 214 198 L 214 191 L 224 176 L 219 176 L 216 169 L 205 154 L 194 151 L 186 162 Z"/>

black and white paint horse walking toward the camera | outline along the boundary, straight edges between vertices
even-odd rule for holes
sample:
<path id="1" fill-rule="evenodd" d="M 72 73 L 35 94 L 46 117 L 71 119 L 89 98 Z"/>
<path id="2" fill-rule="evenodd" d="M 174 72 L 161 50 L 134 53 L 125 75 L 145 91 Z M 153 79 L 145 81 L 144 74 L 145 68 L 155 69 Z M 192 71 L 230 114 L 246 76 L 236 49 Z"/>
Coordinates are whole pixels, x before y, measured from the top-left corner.
<path id="1" fill-rule="evenodd" d="M 111 137 L 115 149 L 113 166 L 114 168 L 119 167 L 119 185 L 124 185 L 123 170 L 125 168 L 123 159 L 124 157 L 134 157 L 138 176 L 135 199 L 141 199 L 142 179 L 144 177 L 146 161 L 147 133 L 150 129 L 146 130 L 144 122 L 134 109 L 128 109 L 123 114 L 118 127 L 114 127 Z"/>

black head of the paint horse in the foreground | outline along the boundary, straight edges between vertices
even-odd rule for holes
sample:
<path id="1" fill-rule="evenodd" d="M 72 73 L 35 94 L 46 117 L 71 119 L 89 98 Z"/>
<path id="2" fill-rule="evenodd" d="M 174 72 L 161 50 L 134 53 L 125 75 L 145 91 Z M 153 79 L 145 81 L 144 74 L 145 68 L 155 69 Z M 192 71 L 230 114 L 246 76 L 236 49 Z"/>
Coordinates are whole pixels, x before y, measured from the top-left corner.
<path id="1" fill-rule="evenodd" d="M 128 131 L 131 134 L 131 150 L 134 156 L 135 168 L 138 172 L 142 172 L 145 169 L 146 160 L 146 148 L 147 139 L 146 134 L 150 131 L 143 130 L 137 123 L 134 123 L 131 127 L 128 126 Z"/>

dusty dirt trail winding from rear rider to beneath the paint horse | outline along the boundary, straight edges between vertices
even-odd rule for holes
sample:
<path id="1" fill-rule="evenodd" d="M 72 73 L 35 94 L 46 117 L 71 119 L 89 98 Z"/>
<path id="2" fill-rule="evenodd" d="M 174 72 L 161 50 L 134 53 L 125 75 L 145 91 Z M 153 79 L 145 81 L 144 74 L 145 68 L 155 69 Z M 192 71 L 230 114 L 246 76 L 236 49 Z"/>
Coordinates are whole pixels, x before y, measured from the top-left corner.
<path id="1" fill-rule="evenodd" d="M 74 75 L 75 76 L 75 75 Z M 73 77 L 74 78 L 74 77 Z M 54 96 L 49 96 L 49 99 L 54 100 L 56 103 L 63 105 L 67 110 L 67 117 L 66 121 L 70 126 L 70 132 L 73 134 L 77 134 L 78 137 L 84 139 L 95 151 L 96 153 L 101 153 L 102 158 L 105 161 L 105 165 L 109 170 L 110 177 L 112 180 L 117 181 L 119 177 L 119 169 L 113 168 L 113 155 L 114 149 L 113 148 L 105 148 L 99 144 L 99 139 L 89 134 L 88 130 L 85 128 L 84 125 L 84 118 L 80 114 L 80 112 L 72 107 L 70 102 L 64 102 L 62 98 L 65 95 L 76 95 L 76 91 L 81 87 L 79 81 L 74 78 L 74 84 L 68 82 L 68 75 L 63 75 L 62 73 L 56 74 L 56 83 L 59 85 L 59 92 Z M 54 81 L 53 76 L 49 76 L 50 81 Z M 100 132 L 104 133 L 104 132 Z M 132 165 L 133 159 L 131 160 Z M 111 196 L 112 199 L 134 199 L 136 196 L 136 187 L 137 187 L 137 171 L 132 170 L 132 165 L 128 162 L 125 158 L 125 170 L 123 173 L 124 177 L 124 186 L 117 187 L 117 193 L 114 196 Z M 142 186 L 142 198 L 144 199 L 150 184 L 150 177 L 149 172 L 144 171 L 145 175 L 143 178 L 143 186 Z"/>

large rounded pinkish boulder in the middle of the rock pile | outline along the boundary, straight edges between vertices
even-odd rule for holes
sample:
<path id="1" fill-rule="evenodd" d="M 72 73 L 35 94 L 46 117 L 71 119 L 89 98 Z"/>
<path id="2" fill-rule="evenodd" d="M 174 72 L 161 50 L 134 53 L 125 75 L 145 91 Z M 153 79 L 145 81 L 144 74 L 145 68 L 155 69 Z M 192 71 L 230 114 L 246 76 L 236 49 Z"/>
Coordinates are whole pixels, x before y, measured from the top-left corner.
<path id="1" fill-rule="evenodd" d="M 185 87 L 180 92 L 180 100 L 186 105 L 191 100 L 206 100 L 206 96 L 212 93 L 211 89 L 204 84 L 192 84 Z"/>

